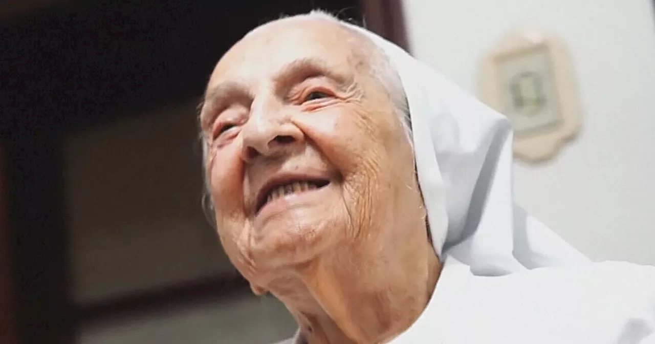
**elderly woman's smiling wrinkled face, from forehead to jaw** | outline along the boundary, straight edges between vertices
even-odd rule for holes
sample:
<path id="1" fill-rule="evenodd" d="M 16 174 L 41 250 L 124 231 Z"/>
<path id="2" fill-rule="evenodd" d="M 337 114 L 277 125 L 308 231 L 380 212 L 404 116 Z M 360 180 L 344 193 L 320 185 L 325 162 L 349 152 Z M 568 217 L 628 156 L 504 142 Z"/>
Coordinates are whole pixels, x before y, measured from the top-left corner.
<path id="1" fill-rule="evenodd" d="M 422 212 L 411 146 L 361 50 L 337 24 L 282 20 L 210 77 L 200 121 L 217 231 L 257 286 L 342 250 L 376 256 Z"/>

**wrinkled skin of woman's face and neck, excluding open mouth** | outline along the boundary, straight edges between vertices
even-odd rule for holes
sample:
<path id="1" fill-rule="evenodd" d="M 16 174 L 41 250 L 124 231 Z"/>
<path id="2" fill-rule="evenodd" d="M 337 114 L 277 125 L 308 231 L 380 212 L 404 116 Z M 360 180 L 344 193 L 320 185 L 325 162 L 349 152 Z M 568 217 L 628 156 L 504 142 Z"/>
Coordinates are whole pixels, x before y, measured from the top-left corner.
<path id="1" fill-rule="evenodd" d="M 411 145 L 366 47 L 328 20 L 265 24 L 221 58 L 200 114 L 223 248 L 310 343 L 388 341 L 439 271 Z M 329 184 L 259 210 L 271 180 L 307 176 Z"/>

